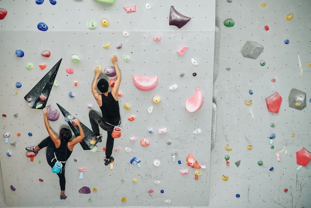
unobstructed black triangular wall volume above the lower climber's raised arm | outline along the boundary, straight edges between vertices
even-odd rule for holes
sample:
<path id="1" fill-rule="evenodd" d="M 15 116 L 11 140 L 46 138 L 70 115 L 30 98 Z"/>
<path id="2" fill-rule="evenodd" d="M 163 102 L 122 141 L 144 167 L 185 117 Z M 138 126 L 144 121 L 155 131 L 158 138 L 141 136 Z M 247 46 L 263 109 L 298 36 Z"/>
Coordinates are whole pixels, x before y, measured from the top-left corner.
<path id="1" fill-rule="evenodd" d="M 31 108 L 43 109 L 45 107 L 46 103 L 48 102 L 48 98 L 61 62 L 62 59 L 60 59 L 55 64 L 55 66 L 24 97 L 25 101 L 29 104 Z M 40 100 L 40 95 L 46 96 L 47 99 L 44 101 Z"/>

